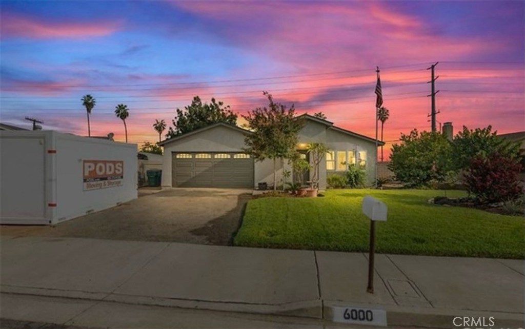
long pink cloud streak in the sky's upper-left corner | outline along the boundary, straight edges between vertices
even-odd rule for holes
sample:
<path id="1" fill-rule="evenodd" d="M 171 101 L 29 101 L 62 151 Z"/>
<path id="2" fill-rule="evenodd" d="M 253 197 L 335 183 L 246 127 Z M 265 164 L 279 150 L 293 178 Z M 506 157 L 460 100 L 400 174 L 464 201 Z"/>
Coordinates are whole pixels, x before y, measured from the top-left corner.
<path id="1" fill-rule="evenodd" d="M 0 35 L 2 38 L 22 36 L 42 39 L 99 37 L 113 33 L 119 26 L 120 23 L 109 20 L 54 22 L 14 13 L 3 13 Z"/>

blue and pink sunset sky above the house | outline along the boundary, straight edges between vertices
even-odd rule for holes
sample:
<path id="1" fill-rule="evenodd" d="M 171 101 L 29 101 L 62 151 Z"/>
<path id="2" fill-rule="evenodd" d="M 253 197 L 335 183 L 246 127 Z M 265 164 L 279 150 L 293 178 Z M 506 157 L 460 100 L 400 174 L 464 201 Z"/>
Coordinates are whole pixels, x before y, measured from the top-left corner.
<path id="1" fill-rule="evenodd" d="M 275 101 L 374 137 L 376 66 L 401 133 L 437 125 L 525 130 L 524 1 L 0 1 L 0 121 L 159 139 L 195 95 L 240 115 Z M 238 120 L 239 124 L 243 119 Z"/>

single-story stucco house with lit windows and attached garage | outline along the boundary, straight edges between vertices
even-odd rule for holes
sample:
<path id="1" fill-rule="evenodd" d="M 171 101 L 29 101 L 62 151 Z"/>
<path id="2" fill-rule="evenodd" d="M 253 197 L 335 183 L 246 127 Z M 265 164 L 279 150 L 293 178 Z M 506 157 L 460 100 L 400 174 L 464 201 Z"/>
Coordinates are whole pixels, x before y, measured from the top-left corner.
<path id="1" fill-rule="evenodd" d="M 319 166 L 319 188 L 325 189 L 326 177 L 342 174 L 346 163 L 361 164 L 367 184 L 374 181 L 375 139 L 345 130 L 327 120 L 303 114 L 305 125 L 299 132 L 297 151 L 310 161 L 308 143 L 328 146 L 329 152 Z M 254 188 L 258 183 L 273 183 L 274 163 L 261 162 L 244 151 L 249 130 L 216 123 L 159 143 L 164 147 L 162 186 L 169 187 L 235 187 Z M 378 142 L 377 145 L 381 145 Z M 287 161 L 278 162 L 277 177 L 282 184 L 283 172 L 291 171 Z M 312 177 L 310 171 L 307 177 Z"/>

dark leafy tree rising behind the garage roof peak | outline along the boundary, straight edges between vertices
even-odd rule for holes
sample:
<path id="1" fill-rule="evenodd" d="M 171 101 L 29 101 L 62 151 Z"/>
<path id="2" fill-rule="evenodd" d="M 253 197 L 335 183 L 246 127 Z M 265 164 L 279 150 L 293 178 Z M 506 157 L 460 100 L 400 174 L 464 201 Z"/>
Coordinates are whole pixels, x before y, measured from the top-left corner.
<path id="1" fill-rule="evenodd" d="M 176 109 L 177 116 L 172 120 L 173 127 L 170 127 L 166 137 L 182 135 L 217 122 L 236 125 L 237 114 L 229 110 L 229 105 L 223 105 L 223 102 L 216 102 L 215 98 L 212 98 L 211 103 L 203 104 L 201 98 L 195 96 L 183 110 Z"/>

